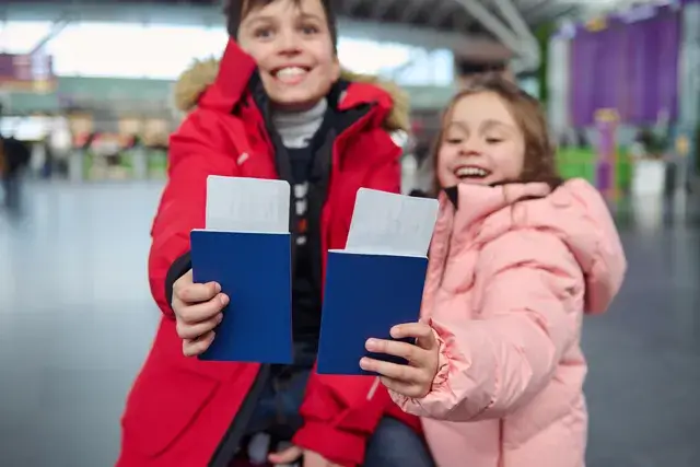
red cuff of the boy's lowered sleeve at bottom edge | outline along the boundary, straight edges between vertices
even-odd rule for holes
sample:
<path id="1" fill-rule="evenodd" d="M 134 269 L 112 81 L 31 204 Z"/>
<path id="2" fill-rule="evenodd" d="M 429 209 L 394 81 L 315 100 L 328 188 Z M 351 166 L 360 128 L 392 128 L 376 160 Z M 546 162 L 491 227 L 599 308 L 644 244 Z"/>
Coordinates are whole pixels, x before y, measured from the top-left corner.
<path id="1" fill-rule="evenodd" d="M 298 446 L 342 467 L 362 465 L 366 441 L 361 433 L 338 430 L 317 421 L 306 421 L 292 440 Z"/>

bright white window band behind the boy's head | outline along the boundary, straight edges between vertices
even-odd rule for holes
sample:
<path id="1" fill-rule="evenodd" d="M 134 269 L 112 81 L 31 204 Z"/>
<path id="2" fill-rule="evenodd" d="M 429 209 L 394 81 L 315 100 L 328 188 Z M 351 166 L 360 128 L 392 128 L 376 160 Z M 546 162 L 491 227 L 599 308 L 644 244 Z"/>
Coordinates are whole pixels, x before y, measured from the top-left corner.
<path id="1" fill-rule="evenodd" d="M 0 23 L 0 48 L 23 52 L 50 32 L 50 23 Z M 223 27 L 75 22 L 46 46 L 59 75 L 176 79 L 195 59 L 220 57 L 226 46 Z M 382 75 L 399 84 L 450 85 L 450 50 L 428 51 L 401 44 L 340 37 L 343 67 Z"/>

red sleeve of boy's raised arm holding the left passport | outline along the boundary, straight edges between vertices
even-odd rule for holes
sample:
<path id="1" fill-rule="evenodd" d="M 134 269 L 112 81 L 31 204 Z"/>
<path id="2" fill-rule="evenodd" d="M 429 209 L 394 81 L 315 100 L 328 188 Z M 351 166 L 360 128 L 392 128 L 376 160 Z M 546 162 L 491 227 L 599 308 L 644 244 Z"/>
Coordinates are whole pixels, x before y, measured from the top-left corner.
<path id="1" fill-rule="evenodd" d="M 151 227 L 149 282 L 161 311 L 173 316 L 173 283 L 187 272 L 189 233 L 205 226 L 207 177 L 235 175 L 235 154 L 223 147 L 220 117 L 195 110 L 171 137 L 167 184 Z"/>

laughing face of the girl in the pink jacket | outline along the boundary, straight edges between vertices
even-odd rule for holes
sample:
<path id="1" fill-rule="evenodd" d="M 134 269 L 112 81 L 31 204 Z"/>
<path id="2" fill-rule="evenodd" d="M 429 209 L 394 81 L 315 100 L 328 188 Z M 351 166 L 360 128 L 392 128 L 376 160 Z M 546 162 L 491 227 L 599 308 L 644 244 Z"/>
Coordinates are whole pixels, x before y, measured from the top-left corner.
<path id="1" fill-rule="evenodd" d="M 525 138 L 498 94 L 462 97 L 445 125 L 436 167 L 442 187 L 491 185 L 517 179 L 523 173 Z"/>

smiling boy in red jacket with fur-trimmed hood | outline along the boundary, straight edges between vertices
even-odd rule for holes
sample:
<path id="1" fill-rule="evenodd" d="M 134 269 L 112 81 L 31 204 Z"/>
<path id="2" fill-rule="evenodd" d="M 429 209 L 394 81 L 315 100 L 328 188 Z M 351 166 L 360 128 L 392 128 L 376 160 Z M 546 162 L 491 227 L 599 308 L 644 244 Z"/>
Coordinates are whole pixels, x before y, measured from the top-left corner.
<path id="1" fill-rule="evenodd" d="M 176 86 L 189 115 L 171 139 L 149 259 L 163 318 L 127 400 L 118 466 L 229 466 L 260 431 L 292 437 L 271 464 L 433 466 L 419 420 L 376 378 L 313 371 L 325 254 L 345 246 L 359 188 L 399 191 L 406 98 L 341 71 L 330 0 L 232 1 L 228 15 L 221 61 Z M 292 186 L 293 365 L 196 358 L 229 303 L 219 284 L 192 283 L 189 233 L 205 227 L 209 175 Z"/>

